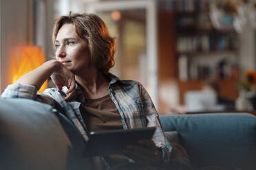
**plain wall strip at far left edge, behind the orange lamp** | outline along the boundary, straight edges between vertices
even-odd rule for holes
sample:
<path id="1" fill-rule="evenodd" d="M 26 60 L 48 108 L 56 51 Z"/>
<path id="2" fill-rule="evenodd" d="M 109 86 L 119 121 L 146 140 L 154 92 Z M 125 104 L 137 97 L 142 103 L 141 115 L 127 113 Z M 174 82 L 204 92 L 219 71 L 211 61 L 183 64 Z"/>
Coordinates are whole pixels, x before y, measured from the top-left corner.
<path id="1" fill-rule="evenodd" d="M 28 0 L 0 1 L 1 93 L 11 83 L 12 62 L 21 45 L 28 45 Z"/>

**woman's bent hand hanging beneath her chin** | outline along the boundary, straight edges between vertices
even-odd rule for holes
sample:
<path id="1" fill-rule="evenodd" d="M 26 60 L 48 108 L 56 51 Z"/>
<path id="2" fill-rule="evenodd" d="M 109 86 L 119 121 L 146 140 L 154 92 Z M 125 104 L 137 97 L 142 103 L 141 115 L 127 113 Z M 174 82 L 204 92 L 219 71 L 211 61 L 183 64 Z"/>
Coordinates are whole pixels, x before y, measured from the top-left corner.
<path id="1" fill-rule="evenodd" d="M 63 64 L 60 64 L 60 67 L 54 71 L 51 75 L 52 82 L 56 85 L 58 90 L 61 90 L 63 86 L 67 87 L 65 100 L 70 100 L 74 97 L 76 93 L 76 81 L 74 74 L 68 70 Z"/>

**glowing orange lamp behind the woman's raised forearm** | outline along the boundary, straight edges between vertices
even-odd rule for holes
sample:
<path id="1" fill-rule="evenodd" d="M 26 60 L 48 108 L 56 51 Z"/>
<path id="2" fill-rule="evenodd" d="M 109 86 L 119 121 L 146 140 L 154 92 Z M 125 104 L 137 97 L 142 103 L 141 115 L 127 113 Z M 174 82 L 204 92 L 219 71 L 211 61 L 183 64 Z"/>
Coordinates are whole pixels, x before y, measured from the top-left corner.
<path id="1" fill-rule="evenodd" d="M 15 61 L 12 66 L 12 84 L 19 80 L 21 76 L 41 66 L 43 62 L 45 62 L 45 56 L 41 47 L 21 47 L 21 58 L 19 62 Z M 47 82 L 41 86 L 39 93 L 42 93 L 45 88 L 47 88 Z"/>

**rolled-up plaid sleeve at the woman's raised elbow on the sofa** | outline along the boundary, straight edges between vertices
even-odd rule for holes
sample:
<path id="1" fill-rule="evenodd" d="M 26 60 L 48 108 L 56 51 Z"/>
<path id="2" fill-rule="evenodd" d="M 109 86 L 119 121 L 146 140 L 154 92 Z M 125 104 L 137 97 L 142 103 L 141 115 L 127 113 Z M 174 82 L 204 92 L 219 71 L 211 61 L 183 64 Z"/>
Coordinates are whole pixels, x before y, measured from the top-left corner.
<path id="1" fill-rule="evenodd" d="M 1 98 L 24 98 L 24 99 L 36 99 L 36 87 L 28 84 L 10 84 L 3 91 Z"/>

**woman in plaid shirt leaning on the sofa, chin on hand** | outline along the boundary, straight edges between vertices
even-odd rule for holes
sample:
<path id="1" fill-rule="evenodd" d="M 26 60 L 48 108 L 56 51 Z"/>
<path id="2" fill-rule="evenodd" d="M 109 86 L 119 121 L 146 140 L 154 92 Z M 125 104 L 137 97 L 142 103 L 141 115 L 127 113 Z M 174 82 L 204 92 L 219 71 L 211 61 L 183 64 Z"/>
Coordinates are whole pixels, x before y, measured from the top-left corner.
<path id="1" fill-rule="evenodd" d="M 189 161 L 164 138 L 158 113 L 145 88 L 109 73 L 116 45 L 98 16 L 61 16 L 54 26 L 53 42 L 56 60 L 21 77 L 8 86 L 2 97 L 25 97 L 52 104 L 72 120 L 85 141 L 92 131 L 157 127 L 153 140 L 129 145 L 123 154 L 105 156 L 104 162 L 112 169 L 189 167 Z M 56 88 L 37 94 L 49 77 Z"/>

